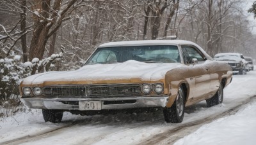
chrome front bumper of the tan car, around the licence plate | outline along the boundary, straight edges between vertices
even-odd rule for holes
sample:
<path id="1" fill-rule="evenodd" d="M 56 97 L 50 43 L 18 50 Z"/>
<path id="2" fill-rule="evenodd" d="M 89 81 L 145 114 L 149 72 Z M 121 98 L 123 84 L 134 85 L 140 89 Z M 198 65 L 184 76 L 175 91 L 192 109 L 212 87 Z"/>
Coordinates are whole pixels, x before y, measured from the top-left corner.
<path id="1" fill-rule="evenodd" d="M 79 110 L 79 101 L 101 101 L 101 109 L 129 109 L 136 107 L 165 107 L 169 97 L 108 97 L 108 98 L 72 98 L 72 97 L 48 97 L 48 98 L 21 98 L 27 107 L 36 109 L 62 109 Z M 133 103 L 104 104 L 104 101 L 136 100 Z M 65 102 L 77 102 L 67 104 Z"/>

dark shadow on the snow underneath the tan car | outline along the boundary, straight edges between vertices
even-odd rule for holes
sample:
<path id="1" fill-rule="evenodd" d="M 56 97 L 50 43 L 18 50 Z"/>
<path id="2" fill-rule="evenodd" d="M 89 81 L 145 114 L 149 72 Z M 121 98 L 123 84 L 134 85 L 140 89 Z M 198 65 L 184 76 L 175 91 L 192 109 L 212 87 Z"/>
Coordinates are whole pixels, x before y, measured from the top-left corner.
<path id="1" fill-rule="evenodd" d="M 197 113 L 206 108 L 206 103 L 199 102 L 193 106 L 186 107 L 185 113 Z M 132 123 L 165 123 L 163 116 L 163 109 L 161 108 L 141 108 L 141 109 L 127 109 L 119 111 L 109 111 L 104 114 L 90 113 L 87 115 L 75 115 L 68 112 L 63 114 L 63 121 L 61 123 L 79 124 L 79 125 L 129 125 Z"/>

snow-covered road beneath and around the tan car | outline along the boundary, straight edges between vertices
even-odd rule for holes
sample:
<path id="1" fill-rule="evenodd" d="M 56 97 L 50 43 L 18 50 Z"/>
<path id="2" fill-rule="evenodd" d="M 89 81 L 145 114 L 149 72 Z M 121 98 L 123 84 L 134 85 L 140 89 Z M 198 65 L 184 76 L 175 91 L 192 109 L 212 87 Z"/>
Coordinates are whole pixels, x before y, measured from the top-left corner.
<path id="1" fill-rule="evenodd" d="M 224 113 L 250 101 L 255 94 L 256 71 L 234 75 L 224 90 L 223 104 L 207 108 L 202 101 L 188 107 L 184 121 L 178 124 L 165 123 L 162 111 L 95 116 L 65 113 L 60 124 L 53 124 L 45 123 L 40 110 L 33 109 L 0 121 L 0 144 L 141 144 L 173 128 Z M 161 144 L 252 144 L 256 142 L 255 112 L 256 102 L 252 101 L 236 114 L 202 123 L 176 143 L 168 142 L 167 136 Z"/>

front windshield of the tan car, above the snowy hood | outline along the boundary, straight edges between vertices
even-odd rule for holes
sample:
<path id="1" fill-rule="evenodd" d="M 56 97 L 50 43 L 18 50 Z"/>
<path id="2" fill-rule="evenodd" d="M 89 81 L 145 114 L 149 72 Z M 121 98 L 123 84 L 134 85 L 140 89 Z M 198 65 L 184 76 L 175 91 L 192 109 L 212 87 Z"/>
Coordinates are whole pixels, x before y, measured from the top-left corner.
<path id="1" fill-rule="evenodd" d="M 180 62 L 177 46 L 116 46 L 97 48 L 86 64 L 111 64 L 127 60 L 147 63 Z"/>

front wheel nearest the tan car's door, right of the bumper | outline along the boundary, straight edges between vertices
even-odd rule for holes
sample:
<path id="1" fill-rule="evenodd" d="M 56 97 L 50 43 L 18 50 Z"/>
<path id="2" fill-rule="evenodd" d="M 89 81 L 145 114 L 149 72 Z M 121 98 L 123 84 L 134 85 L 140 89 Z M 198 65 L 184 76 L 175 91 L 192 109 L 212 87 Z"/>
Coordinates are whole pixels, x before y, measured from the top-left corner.
<path id="1" fill-rule="evenodd" d="M 167 123 L 180 123 L 183 121 L 185 109 L 184 100 L 184 91 L 182 86 L 180 86 L 172 107 L 163 108 L 164 120 Z"/>

